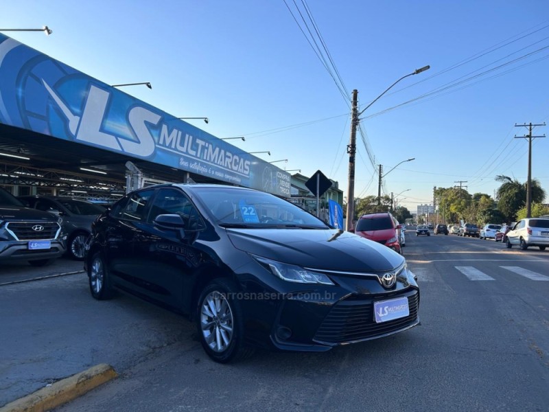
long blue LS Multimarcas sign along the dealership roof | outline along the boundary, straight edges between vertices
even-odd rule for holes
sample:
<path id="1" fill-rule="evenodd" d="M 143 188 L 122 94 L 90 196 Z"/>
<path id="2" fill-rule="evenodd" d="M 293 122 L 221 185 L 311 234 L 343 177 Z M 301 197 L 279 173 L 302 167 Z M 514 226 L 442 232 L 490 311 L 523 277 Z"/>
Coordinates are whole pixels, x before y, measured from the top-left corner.
<path id="1" fill-rule="evenodd" d="M 0 122 L 290 197 L 290 174 L 0 34 Z"/>

